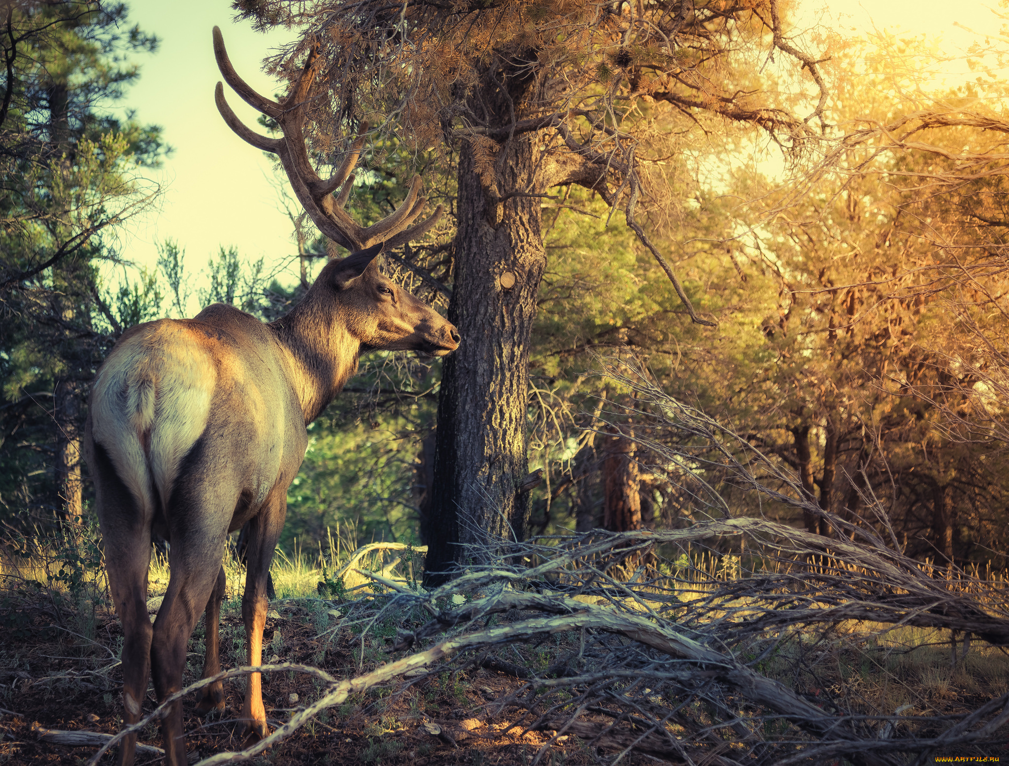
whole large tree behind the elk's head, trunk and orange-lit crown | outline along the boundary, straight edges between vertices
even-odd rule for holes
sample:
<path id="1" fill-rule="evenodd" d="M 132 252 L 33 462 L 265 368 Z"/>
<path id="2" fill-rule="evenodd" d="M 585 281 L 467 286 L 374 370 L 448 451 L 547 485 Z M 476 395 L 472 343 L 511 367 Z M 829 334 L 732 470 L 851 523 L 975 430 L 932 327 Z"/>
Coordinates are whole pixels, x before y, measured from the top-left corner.
<path id="1" fill-rule="evenodd" d="M 689 124 L 705 115 L 758 124 L 795 147 L 812 130 L 791 116 L 791 99 L 770 101 L 756 84 L 758 47 L 777 46 L 821 84 L 817 63 L 783 36 L 773 1 L 237 7 L 257 24 L 304 30 L 272 61 L 282 75 L 295 77 L 300 54 L 321 46 L 328 92 L 314 102 L 317 149 L 339 155 L 326 136 L 377 113 L 381 130 L 418 151 L 443 146 L 454 169 L 454 188 L 442 192 L 457 225 L 449 318 L 464 343 L 443 369 L 432 500 L 440 526 L 428 559 L 431 571 L 445 570 L 464 557 L 459 544 L 521 536 L 527 526 L 527 370 L 550 190 L 581 185 L 609 214 L 623 209 L 699 320 L 635 218 L 670 202 L 650 172 L 659 142 L 638 129 L 640 102 L 670 103 Z M 807 113 L 818 116 L 822 104 Z"/>

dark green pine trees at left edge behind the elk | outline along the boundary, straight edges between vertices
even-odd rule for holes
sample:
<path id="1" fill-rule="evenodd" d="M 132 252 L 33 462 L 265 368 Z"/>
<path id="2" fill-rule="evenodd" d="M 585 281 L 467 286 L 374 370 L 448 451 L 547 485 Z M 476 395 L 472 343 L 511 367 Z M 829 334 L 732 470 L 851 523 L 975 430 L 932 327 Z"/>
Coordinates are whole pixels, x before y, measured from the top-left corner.
<path id="1" fill-rule="evenodd" d="M 138 76 L 124 54 L 156 39 L 127 27 L 121 4 L 9 2 L 2 14 L 0 496 L 8 514 L 77 517 L 87 382 L 124 326 L 159 312 L 149 279 L 103 295 L 99 272 L 117 259 L 111 227 L 157 191 L 138 176 L 163 151 L 157 128 L 107 111 Z"/>

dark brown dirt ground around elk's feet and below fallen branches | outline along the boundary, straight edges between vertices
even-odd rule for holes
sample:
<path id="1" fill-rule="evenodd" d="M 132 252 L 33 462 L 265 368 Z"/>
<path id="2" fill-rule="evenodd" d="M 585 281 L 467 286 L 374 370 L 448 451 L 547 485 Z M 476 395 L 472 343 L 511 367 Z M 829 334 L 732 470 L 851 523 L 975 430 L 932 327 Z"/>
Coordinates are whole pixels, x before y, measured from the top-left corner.
<path id="1" fill-rule="evenodd" d="M 317 640 L 318 616 L 297 604 L 271 605 L 270 614 L 273 617 L 267 620 L 264 631 L 264 661 L 276 654 L 279 661 L 316 665 L 336 677 L 357 674 L 361 656 L 358 636 L 344 631 L 331 641 Z M 44 609 L 22 607 L 17 616 L 21 629 L 0 646 L 0 763 L 84 764 L 97 747 L 50 744 L 40 741 L 37 732 L 39 727 L 105 734 L 118 731 L 122 681 L 115 661 L 122 637 L 118 620 L 99 616 L 94 624 L 95 638 L 89 642 L 66 629 L 50 627 L 51 615 Z M 201 623 L 190 642 L 187 683 L 196 680 L 202 667 L 202 635 Z M 244 664 L 235 661 L 236 655 L 244 653 L 244 629 L 237 615 L 222 619 L 221 636 L 222 665 Z M 366 649 L 364 657 L 365 670 L 369 663 L 373 667 L 381 661 L 377 649 Z M 529 764 L 554 733 L 524 734 L 521 728 L 506 732 L 511 723 L 507 712 L 487 720 L 493 700 L 520 683 L 512 676 L 476 669 L 455 679 L 442 674 L 415 679 L 413 684 L 402 681 L 372 688 L 323 714 L 253 763 Z M 220 720 L 197 718 L 195 698 L 184 705 L 191 763 L 197 753 L 204 758 L 241 748 L 241 726 L 236 719 L 244 685 L 244 679 L 225 681 L 227 707 Z M 320 691 L 319 682 L 305 676 L 290 672 L 264 676 L 263 702 L 270 725 L 283 724 L 298 705 L 318 698 Z M 297 701 L 291 701 L 292 694 L 298 694 Z M 144 713 L 154 706 L 153 692 L 148 691 Z M 439 734 L 431 733 L 439 729 Z M 148 727 L 139 741 L 159 747 L 160 733 Z M 112 760 L 108 754 L 102 762 Z M 141 765 L 160 761 L 158 756 L 139 753 L 136 759 Z M 562 737 L 540 762 L 576 766 L 594 760 L 577 738 Z M 630 753 L 622 761 L 632 765 L 656 762 L 659 759 Z"/>

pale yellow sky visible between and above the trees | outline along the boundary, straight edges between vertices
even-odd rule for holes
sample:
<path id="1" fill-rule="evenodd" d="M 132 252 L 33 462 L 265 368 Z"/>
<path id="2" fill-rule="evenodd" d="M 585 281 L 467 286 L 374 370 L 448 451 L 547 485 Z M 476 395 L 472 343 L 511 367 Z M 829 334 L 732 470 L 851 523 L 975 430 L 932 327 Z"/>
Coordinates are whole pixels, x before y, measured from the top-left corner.
<path id="1" fill-rule="evenodd" d="M 799 0 L 802 19 L 834 23 L 848 33 L 875 28 L 941 37 L 950 53 L 966 48 L 975 32 L 997 32 L 999 21 L 989 9 L 995 0 Z M 247 22 L 233 23 L 227 0 L 133 0 L 130 19 L 154 32 L 161 43 L 155 53 L 135 57 L 140 78 L 126 98 L 143 123 L 160 125 L 172 155 L 156 173 L 165 193 L 159 206 L 121 232 L 122 255 L 151 266 L 156 244 L 174 238 L 186 250 L 194 287 L 199 273 L 221 246 L 237 247 L 241 256 L 267 264 L 294 252 L 291 223 L 277 204 L 270 184 L 271 162 L 224 124 L 214 105 L 214 86 L 221 79 L 214 60 L 211 29 L 224 34 L 231 62 L 259 93 L 272 96 L 275 82 L 261 71 L 262 60 L 289 41 L 295 30 L 253 32 Z M 256 113 L 225 86 L 232 109 L 256 127 Z M 294 272 L 292 271 L 292 280 Z M 194 299 L 195 300 L 195 299 Z M 198 307 L 192 304 L 195 311 Z"/>

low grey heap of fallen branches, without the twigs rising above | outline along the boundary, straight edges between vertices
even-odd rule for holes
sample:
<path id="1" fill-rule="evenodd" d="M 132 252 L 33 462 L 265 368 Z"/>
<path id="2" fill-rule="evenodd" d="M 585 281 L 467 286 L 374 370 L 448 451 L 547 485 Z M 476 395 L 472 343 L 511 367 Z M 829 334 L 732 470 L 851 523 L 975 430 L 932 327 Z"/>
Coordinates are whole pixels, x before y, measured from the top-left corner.
<path id="1" fill-rule="evenodd" d="M 787 560 L 788 567 L 705 580 L 660 559 L 630 580 L 611 575 L 644 548 L 678 555 L 688 544 L 740 536 L 761 560 Z M 390 617 L 406 625 L 389 642 L 390 661 L 349 679 L 304 665 L 264 666 L 312 673 L 325 688 L 266 739 L 200 764 L 251 758 L 371 686 L 404 678 L 402 691 L 430 675 L 476 666 L 525 671 L 515 673 L 523 682 L 512 694 L 488 703 L 486 720 L 554 731 L 555 738 L 575 735 L 606 761 L 638 751 L 722 766 L 833 758 L 896 765 L 908 763 L 909 754 L 922 762 L 938 749 L 990 744 L 1009 720 L 1009 694 L 963 716 L 876 709 L 831 683 L 829 667 L 818 667 L 824 656 L 852 651 L 854 639 L 836 628 L 853 621 L 939 626 L 985 641 L 1009 636 L 1003 612 L 970 593 L 943 590 L 941 580 L 892 550 L 728 519 L 684 530 L 569 536 L 513 546 L 510 553 L 430 592 L 360 572 L 385 592 L 345 605 L 341 625 L 357 624 L 364 633 Z M 509 563 L 516 560 L 531 563 Z M 555 657 L 547 666 L 531 659 L 541 647 Z"/>

